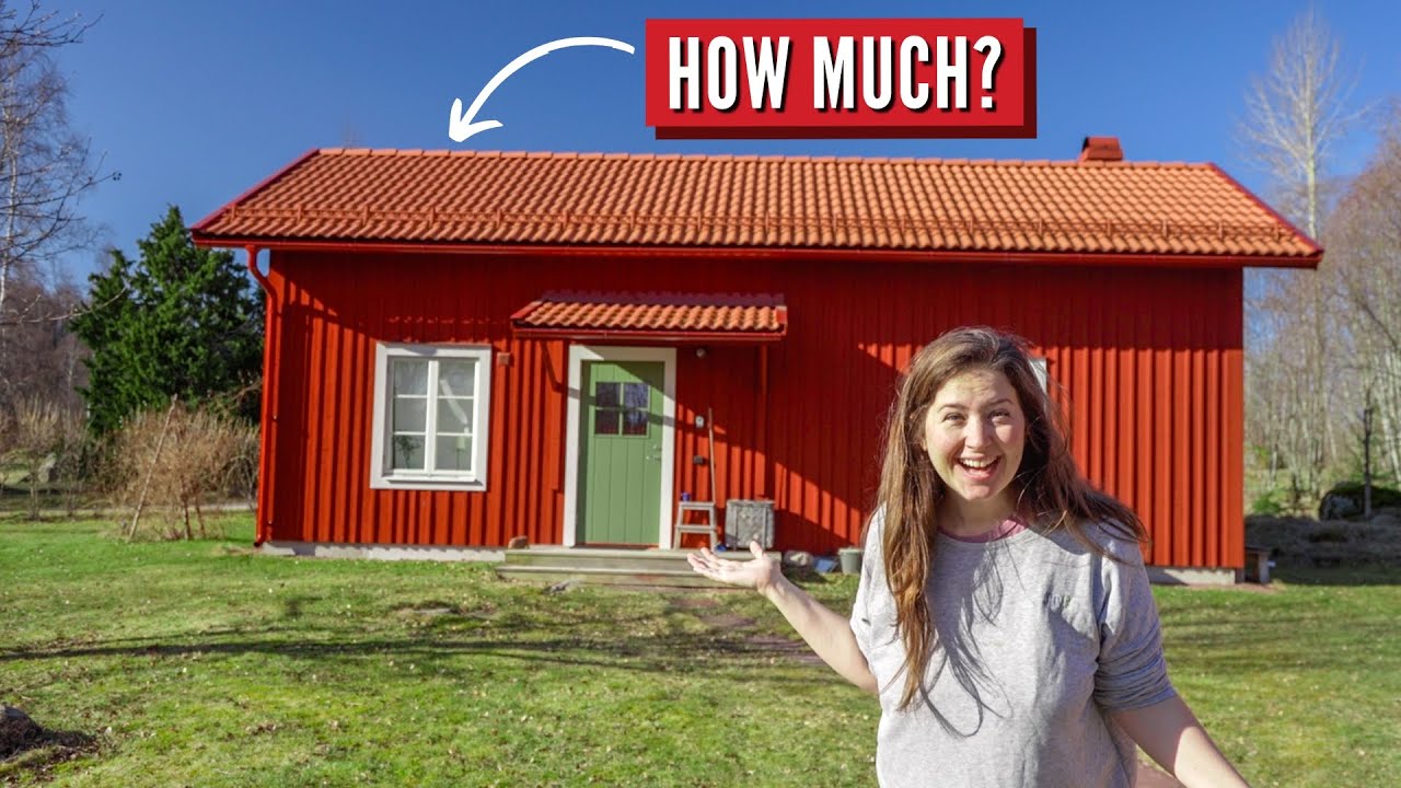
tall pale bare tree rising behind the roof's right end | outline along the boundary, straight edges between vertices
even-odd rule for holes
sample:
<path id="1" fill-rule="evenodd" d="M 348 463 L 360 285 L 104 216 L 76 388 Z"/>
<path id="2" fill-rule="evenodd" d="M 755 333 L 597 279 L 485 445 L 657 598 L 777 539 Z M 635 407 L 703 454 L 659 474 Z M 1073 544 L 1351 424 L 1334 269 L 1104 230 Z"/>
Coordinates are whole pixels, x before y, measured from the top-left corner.
<path id="1" fill-rule="evenodd" d="M 1271 50 L 1269 67 L 1251 81 L 1240 132 L 1248 154 L 1269 175 L 1281 212 L 1311 237 L 1323 233 L 1334 184 L 1330 153 L 1363 112 L 1349 108 L 1356 72 L 1314 8 L 1302 14 Z M 1339 457 L 1335 412 L 1346 383 L 1325 258 L 1316 273 L 1276 272 L 1251 279 L 1247 304 L 1247 433 L 1265 447 L 1269 467 L 1286 470 L 1296 503 L 1311 498 Z"/>

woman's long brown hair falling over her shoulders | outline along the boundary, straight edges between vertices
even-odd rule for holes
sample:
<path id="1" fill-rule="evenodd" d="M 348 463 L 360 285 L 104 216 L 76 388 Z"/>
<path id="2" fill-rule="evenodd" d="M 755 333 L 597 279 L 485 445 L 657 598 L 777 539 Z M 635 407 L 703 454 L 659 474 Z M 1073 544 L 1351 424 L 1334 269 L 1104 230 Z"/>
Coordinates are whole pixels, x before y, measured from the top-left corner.
<path id="1" fill-rule="evenodd" d="M 877 512 L 884 512 L 881 550 L 885 582 L 895 597 L 897 627 L 905 645 L 905 690 L 899 708 L 919 694 L 936 648 L 926 587 L 934 562 L 939 502 L 944 484 L 920 446 L 925 418 L 948 380 L 969 370 L 1000 372 L 1012 383 L 1026 415 L 1026 447 L 1012 481 L 1017 516 L 1041 531 L 1068 529 L 1096 552 L 1087 523 L 1114 527 L 1124 538 L 1143 541 L 1132 509 L 1094 489 L 1075 464 L 1065 416 L 1042 390 L 1027 342 L 986 327 L 957 328 L 926 345 L 911 360 L 885 426 Z"/>

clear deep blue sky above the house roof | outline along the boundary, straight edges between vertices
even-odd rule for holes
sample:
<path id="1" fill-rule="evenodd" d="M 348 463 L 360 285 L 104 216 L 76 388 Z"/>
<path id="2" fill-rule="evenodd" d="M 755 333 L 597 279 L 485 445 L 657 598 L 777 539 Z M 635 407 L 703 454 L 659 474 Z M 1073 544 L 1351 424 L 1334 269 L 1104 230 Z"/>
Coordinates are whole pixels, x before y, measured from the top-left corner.
<path id="1" fill-rule="evenodd" d="M 1086 135 L 1115 135 L 1132 160 L 1215 161 L 1262 189 L 1236 126 L 1271 42 L 1302 0 L 1177 3 L 566 3 L 46 1 L 101 15 L 60 53 L 73 125 L 122 174 L 83 203 L 105 243 L 136 240 L 178 205 L 193 223 L 312 147 L 368 146 L 633 153 L 759 153 L 1073 158 Z M 1401 3 L 1320 4 L 1360 67 L 1358 104 L 1401 93 Z M 1038 136 L 1027 140 L 656 140 L 643 122 L 647 18 L 1021 17 L 1038 36 Z M 517 55 L 566 36 L 607 36 L 637 53 L 555 52 L 497 88 L 478 119 L 500 129 L 447 136 L 454 98 Z M 1369 136 L 1338 151 L 1362 165 Z M 77 278 L 97 254 L 73 255 Z"/>

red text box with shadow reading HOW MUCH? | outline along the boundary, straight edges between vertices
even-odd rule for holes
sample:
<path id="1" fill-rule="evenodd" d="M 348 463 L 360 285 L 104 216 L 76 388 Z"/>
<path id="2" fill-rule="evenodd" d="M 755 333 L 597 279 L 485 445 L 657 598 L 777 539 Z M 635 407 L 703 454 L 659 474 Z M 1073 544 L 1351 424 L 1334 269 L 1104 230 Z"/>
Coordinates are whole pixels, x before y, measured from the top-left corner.
<path id="1" fill-rule="evenodd" d="M 1021 20 L 647 20 L 658 139 L 1034 137 Z"/>

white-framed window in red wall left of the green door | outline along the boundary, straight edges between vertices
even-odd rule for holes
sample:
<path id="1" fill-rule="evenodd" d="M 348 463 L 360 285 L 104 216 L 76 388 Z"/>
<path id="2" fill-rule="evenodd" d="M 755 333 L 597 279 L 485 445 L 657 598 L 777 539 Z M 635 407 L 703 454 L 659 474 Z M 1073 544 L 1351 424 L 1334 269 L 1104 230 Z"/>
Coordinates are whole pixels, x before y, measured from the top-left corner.
<path id="1" fill-rule="evenodd" d="M 374 489 L 486 489 L 489 345 L 374 351 Z"/>

